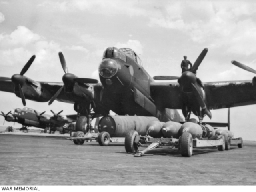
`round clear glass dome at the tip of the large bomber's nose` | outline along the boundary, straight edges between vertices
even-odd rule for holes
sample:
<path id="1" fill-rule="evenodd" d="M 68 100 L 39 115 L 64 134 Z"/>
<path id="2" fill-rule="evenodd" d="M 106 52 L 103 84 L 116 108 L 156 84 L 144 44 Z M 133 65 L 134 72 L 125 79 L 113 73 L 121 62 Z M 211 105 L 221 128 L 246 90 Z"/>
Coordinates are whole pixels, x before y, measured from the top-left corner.
<path id="1" fill-rule="evenodd" d="M 115 60 L 106 58 L 102 60 L 98 70 L 102 77 L 111 78 L 117 73 L 118 65 Z"/>

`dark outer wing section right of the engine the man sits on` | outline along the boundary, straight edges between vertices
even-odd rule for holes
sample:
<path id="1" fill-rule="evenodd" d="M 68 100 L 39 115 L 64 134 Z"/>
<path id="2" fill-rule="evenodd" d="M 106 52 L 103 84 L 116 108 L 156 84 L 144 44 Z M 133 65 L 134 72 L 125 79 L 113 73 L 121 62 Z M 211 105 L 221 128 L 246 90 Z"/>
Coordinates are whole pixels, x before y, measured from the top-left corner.
<path id="1" fill-rule="evenodd" d="M 204 86 L 209 109 L 256 104 L 256 87 L 250 80 L 207 82 Z"/>

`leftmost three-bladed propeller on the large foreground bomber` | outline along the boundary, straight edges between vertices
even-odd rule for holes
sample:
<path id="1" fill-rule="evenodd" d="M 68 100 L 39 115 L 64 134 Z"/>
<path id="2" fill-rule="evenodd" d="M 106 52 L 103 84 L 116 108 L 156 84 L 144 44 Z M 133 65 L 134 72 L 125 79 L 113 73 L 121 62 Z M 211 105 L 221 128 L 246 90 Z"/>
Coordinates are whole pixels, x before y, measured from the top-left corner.
<path id="1" fill-rule="evenodd" d="M 22 68 L 20 74 L 14 74 L 11 78 L 12 83 L 14 84 L 14 86 L 18 86 L 19 88 L 19 92 L 20 92 L 20 97 L 22 100 L 22 104 L 24 106 L 26 106 L 26 100 L 25 100 L 25 96 L 24 96 L 24 92 L 22 90 L 22 86 L 25 83 L 26 78 L 24 78 L 24 74 L 27 72 L 27 70 L 30 68 L 31 64 L 33 63 L 34 59 L 36 58 L 35 55 L 33 55 L 28 62 L 25 64 L 25 66 Z"/>

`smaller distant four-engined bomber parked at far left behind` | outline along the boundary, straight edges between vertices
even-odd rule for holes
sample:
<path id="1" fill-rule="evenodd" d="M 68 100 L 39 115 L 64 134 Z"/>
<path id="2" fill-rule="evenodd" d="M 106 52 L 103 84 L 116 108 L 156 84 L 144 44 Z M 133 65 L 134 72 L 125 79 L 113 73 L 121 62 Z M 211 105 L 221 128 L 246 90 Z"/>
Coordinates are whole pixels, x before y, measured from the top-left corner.
<path id="1" fill-rule="evenodd" d="M 76 121 L 76 115 L 61 115 L 60 112 L 57 114 L 52 110 L 53 115 L 45 114 L 45 111 L 40 113 L 34 109 L 24 107 L 22 109 L 16 108 L 14 113 L 8 112 L 4 114 L 2 112 L 2 116 L 4 119 L 9 122 L 18 122 L 22 124 L 21 130 L 26 130 L 27 127 L 37 127 L 44 129 L 44 132 L 52 132 L 59 131 L 64 133 L 68 133 L 74 130 L 74 124 L 72 122 Z"/>

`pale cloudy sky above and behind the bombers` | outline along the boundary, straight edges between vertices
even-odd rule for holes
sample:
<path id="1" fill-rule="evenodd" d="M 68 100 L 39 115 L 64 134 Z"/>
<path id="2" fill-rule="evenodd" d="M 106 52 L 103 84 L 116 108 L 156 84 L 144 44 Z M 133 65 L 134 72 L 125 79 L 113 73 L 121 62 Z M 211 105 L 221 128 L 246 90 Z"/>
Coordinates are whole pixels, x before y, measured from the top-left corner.
<path id="1" fill-rule="evenodd" d="M 180 76 L 183 56 L 194 63 L 208 53 L 197 70 L 202 82 L 252 80 L 254 74 L 231 64 L 256 69 L 256 2 L 252 0 L 0 0 L 0 76 L 20 73 L 36 55 L 25 76 L 62 82 L 58 52 L 69 72 L 97 78 L 108 47 L 132 48 L 151 76 Z M 175 82 L 175 81 L 171 81 Z M 22 108 L 14 94 L 0 92 L 0 110 Z M 72 104 L 26 100 L 27 107 L 76 114 Z M 212 120 L 227 122 L 227 109 L 211 110 Z M 182 115 L 182 113 L 180 112 Z M 231 108 L 235 137 L 256 140 L 256 106 Z M 4 118 L 0 118 L 3 124 Z M 5 122 L 5 125 L 13 125 Z M 15 127 L 21 125 L 15 124 Z"/>

